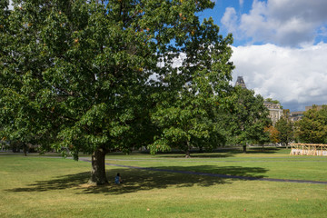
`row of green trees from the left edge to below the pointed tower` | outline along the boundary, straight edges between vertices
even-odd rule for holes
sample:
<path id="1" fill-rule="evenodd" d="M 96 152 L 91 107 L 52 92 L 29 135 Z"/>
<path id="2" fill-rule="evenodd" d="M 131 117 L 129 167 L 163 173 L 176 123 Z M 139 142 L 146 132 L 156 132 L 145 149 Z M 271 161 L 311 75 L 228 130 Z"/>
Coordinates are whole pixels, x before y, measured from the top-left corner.
<path id="1" fill-rule="evenodd" d="M 197 14 L 210 0 L 0 3 L 0 136 L 43 151 L 263 144 L 263 97 L 231 87 L 232 35 Z M 180 64 L 176 64 L 179 60 Z"/>

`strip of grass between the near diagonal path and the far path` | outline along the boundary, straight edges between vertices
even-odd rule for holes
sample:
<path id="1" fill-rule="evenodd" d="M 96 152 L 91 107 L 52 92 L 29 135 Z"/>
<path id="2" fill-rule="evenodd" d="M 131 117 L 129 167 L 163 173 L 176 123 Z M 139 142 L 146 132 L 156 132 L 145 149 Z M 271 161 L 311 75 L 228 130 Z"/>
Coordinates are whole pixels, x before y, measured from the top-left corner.
<path id="1" fill-rule="evenodd" d="M 108 163 L 132 165 L 138 167 L 152 167 L 176 171 L 198 173 L 217 173 L 246 177 L 327 181 L 327 162 L 147 162 L 147 161 L 114 161 Z"/>

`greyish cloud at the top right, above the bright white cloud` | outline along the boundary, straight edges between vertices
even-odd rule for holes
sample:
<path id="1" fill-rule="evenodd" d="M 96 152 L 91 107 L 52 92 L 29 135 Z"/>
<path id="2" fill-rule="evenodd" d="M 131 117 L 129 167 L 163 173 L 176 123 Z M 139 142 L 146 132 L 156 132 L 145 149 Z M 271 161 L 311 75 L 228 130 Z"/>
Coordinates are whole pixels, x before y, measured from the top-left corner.
<path id="1" fill-rule="evenodd" d="M 226 8 L 222 24 L 253 43 L 300 46 L 313 44 L 317 33 L 325 30 L 326 11 L 325 0 L 254 0 L 248 14 L 238 16 Z"/>

